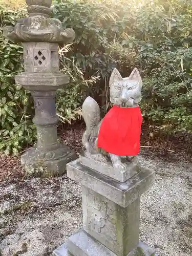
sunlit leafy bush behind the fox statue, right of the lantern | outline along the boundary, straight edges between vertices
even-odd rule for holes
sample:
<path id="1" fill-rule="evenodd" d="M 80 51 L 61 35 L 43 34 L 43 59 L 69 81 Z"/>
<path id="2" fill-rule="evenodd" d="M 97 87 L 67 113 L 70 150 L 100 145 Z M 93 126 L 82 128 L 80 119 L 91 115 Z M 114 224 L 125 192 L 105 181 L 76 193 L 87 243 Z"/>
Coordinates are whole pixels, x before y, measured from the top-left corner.
<path id="1" fill-rule="evenodd" d="M 127 76 L 137 67 L 143 77 L 145 120 L 166 132 L 191 132 L 191 1 L 57 1 L 55 16 L 73 27 L 70 58 L 84 76 L 101 77 L 91 93 L 105 96 L 116 66 Z M 103 104 L 103 100 L 101 101 Z"/>

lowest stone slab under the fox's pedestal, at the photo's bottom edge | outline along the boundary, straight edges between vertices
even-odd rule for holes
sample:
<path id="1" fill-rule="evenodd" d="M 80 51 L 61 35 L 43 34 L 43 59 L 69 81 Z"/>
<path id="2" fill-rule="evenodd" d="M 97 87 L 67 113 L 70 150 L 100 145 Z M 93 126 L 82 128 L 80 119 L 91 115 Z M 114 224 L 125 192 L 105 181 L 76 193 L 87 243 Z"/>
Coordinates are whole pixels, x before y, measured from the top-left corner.
<path id="1" fill-rule="evenodd" d="M 85 231 L 79 231 L 68 242 L 53 251 L 53 256 L 117 256 Z M 155 250 L 143 242 L 127 256 L 157 256 Z"/>

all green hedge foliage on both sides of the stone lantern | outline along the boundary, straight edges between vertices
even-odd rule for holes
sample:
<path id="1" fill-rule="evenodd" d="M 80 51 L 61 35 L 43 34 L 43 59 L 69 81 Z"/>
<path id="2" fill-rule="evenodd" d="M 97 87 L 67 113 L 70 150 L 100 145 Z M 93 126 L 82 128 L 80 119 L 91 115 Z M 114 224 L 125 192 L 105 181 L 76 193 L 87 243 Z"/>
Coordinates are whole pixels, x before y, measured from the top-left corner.
<path id="1" fill-rule="evenodd" d="M 128 76 L 134 67 L 143 77 L 141 108 L 145 120 L 174 133 L 191 132 L 192 38 L 190 1 L 56 1 L 54 16 L 73 28 L 75 43 L 60 50 L 60 68 L 71 77 L 58 90 L 61 121 L 78 117 L 84 97 L 92 95 L 106 112 L 109 76 L 117 67 Z M 33 102 L 14 84 L 22 46 L 4 40 L 2 28 L 26 15 L 0 7 L 0 150 L 22 150 L 35 140 Z"/>

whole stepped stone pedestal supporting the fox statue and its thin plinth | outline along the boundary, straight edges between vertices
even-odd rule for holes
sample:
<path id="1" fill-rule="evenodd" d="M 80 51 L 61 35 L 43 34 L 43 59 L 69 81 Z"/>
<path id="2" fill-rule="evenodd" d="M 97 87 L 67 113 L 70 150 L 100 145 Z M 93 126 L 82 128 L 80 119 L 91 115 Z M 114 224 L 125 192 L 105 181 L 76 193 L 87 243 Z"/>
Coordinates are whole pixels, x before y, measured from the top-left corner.
<path id="1" fill-rule="evenodd" d="M 130 172 L 132 167 L 130 163 Z M 139 241 L 140 196 L 154 182 L 151 170 L 138 167 L 135 175 L 120 182 L 75 160 L 67 164 L 67 174 L 82 184 L 83 230 L 53 255 L 155 256 L 153 248 Z"/>

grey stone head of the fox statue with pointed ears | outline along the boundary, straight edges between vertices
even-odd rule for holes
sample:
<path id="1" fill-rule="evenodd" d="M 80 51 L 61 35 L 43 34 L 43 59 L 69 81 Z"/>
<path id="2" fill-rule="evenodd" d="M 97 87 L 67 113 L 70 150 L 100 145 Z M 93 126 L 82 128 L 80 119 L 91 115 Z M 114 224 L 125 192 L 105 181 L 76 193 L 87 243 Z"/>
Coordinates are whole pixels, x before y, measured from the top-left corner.
<path id="1" fill-rule="evenodd" d="M 114 69 L 110 77 L 111 103 L 123 108 L 137 106 L 141 100 L 141 87 L 141 76 L 136 68 L 125 78 Z"/>

